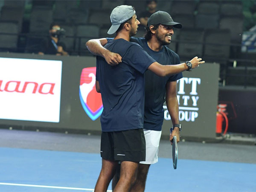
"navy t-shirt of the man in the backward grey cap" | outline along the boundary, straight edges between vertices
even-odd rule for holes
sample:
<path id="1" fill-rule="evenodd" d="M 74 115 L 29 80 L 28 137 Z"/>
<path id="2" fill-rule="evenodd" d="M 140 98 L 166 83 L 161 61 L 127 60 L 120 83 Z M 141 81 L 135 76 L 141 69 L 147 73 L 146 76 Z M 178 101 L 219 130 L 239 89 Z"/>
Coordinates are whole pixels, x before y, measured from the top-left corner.
<path id="1" fill-rule="evenodd" d="M 117 39 L 104 46 L 122 56 L 122 63 L 111 66 L 97 57 L 96 80 L 102 94 L 102 131 L 143 128 L 144 73 L 155 62 L 137 43 Z"/>

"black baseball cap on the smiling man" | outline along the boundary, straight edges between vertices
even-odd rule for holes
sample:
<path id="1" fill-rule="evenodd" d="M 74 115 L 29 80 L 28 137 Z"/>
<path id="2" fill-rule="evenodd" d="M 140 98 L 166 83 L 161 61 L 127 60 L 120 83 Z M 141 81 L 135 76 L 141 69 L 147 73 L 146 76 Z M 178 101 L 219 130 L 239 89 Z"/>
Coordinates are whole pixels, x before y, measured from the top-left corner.
<path id="1" fill-rule="evenodd" d="M 148 27 L 157 24 L 172 25 L 173 27 L 178 29 L 182 28 L 182 25 L 180 23 L 176 23 L 173 21 L 169 13 L 163 11 L 155 12 L 148 18 Z"/>

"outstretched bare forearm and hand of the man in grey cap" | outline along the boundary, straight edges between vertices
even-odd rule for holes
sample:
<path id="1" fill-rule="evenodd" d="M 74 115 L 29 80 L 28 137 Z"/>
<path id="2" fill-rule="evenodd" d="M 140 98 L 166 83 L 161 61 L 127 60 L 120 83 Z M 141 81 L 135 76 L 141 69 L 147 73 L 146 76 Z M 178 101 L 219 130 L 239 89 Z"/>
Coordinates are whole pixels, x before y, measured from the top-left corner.
<path id="1" fill-rule="evenodd" d="M 195 67 L 198 67 L 199 64 L 203 64 L 204 61 L 202 61 L 201 58 L 194 57 L 192 60 L 190 60 L 192 64 L 192 69 Z M 155 73 L 158 76 L 164 77 L 168 75 L 174 75 L 177 73 L 181 73 L 183 71 L 188 70 L 188 67 L 186 66 L 186 63 L 177 64 L 177 65 L 161 65 L 158 62 L 152 63 L 148 70 L 151 70 L 153 73 Z"/>

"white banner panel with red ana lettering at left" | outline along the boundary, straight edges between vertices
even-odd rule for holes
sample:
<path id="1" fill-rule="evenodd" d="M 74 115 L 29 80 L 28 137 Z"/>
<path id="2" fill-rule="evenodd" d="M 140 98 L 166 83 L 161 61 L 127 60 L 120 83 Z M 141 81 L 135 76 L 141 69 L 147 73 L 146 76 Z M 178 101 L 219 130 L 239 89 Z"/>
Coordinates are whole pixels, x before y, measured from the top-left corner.
<path id="1" fill-rule="evenodd" d="M 62 61 L 0 58 L 0 119 L 59 122 Z"/>

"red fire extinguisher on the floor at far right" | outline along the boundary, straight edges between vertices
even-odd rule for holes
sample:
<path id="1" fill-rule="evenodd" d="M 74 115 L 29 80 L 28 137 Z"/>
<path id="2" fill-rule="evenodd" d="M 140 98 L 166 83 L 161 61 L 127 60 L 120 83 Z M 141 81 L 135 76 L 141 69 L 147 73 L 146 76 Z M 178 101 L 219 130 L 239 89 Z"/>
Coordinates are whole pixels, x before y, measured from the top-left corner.
<path id="1" fill-rule="evenodd" d="M 227 119 L 227 114 L 224 113 L 226 111 L 226 104 L 219 104 L 217 106 L 218 112 L 216 113 L 216 136 L 220 137 L 222 134 L 222 123 L 225 120 L 225 130 L 223 133 L 223 136 L 227 133 L 227 128 L 228 128 L 228 119 Z"/>

